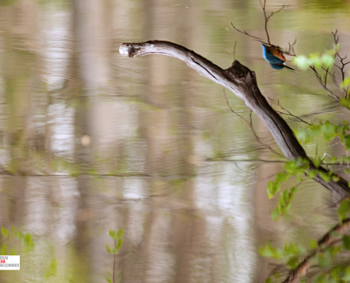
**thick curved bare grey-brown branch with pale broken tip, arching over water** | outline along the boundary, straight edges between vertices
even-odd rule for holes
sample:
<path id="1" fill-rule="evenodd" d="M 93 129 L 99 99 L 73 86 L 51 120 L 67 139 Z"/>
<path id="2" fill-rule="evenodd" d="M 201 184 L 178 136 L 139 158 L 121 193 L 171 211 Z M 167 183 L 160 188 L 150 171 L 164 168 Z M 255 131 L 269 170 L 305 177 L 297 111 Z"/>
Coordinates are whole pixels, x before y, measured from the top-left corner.
<path id="1" fill-rule="evenodd" d="M 264 96 L 262 96 L 262 93 L 257 87 L 255 72 L 250 71 L 250 69 L 240 64 L 238 60 L 235 60 L 231 67 L 221 69 L 216 64 L 192 50 L 188 50 L 186 47 L 173 42 L 158 40 L 123 43 L 119 47 L 119 53 L 132 58 L 149 54 L 162 54 L 182 60 L 202 76 L 228 88 L 236 96 L 243 99 L 247 107 L 255 112 L 267 126 L 286 158 L 291 160 L 296 160 L 297 158 L 308 159 L 310 161 L 310 170 L 316 169 L 310 158 L 306 156 L 303 147 L 299 144 L 286 121 L 272 109 Z M 320 167 L 317 169 L 318 171 L 322 171 L 322 173 L 328 173 L 325 168 Z M 320 175 L 315 175 L 314 177 L 317 183 L 327 187 L 332 192 L 337 192 L 341 196 L 348 195 L 350 190 L 346 180 L 338 176 L 336 179 L 337 181 L 334 179 L 327 182 Z"/>

